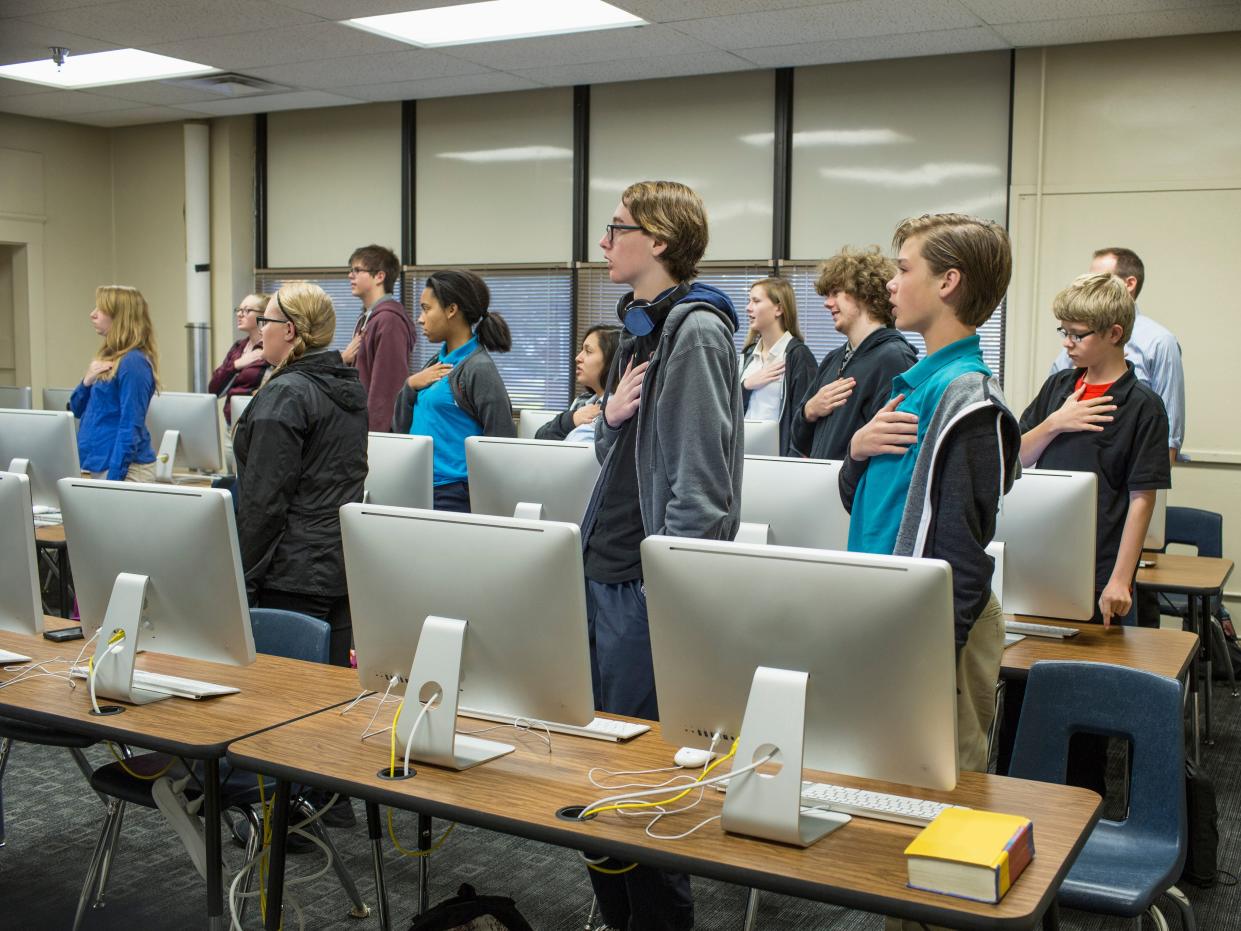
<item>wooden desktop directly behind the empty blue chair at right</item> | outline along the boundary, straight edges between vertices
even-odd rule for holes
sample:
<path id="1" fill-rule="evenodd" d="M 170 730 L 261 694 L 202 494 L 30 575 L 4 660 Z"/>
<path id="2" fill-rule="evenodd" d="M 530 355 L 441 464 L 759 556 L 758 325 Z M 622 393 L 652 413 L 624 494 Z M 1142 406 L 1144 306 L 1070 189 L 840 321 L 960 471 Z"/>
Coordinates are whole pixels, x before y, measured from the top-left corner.
<path id="1" fill-rule="evenodd" d="M 1198 649 L 1198 637 L 1188 631 L 1154 627 L 1122 627 L 1078 623 L 1054 617 L 1020 617 L 1040 624 L 1075 627 L 1080 634 L 1059 641 L 1050 637 L 1026 637 L 1004 649 L 1001 670 L 1005 675 L 1024 679 L 1030 667 L 1040 659 L 1067 659 L 1086 663 L 1114 663 L 1131 669 L 1179 679 L 1189 669 Z"/>

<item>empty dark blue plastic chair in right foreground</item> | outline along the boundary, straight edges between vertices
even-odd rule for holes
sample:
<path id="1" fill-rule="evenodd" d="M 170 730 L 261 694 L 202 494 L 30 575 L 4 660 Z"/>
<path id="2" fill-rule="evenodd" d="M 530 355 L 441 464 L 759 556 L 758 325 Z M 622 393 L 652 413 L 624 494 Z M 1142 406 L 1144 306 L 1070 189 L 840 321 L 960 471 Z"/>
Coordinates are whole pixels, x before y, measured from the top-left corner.
<path id="1" fill-rule="evenodd" d="M 1194 910 L 1174 885 L 1185 864 L 1185 730 L 1181 688 L 1140 669 L 1106 663 L 1035 663 L 1026 683 L 1009 775 L 1065 782 L 1076 732 L 1122 737 L 1133 746 L 1129 811 L 1101 819 L 1069 870 L 1057 901 L 1121 917 L 1149 914 L 1168 894 L 1193 931 Z"/>

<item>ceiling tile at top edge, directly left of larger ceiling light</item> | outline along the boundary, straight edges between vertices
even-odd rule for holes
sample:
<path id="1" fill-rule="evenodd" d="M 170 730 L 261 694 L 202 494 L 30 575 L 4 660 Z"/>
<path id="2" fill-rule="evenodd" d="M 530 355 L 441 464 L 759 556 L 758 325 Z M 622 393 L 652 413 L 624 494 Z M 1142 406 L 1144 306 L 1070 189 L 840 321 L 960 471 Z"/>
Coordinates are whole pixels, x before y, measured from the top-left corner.
<path id="1" fill-rule="evenodd" d="M 36 14 L 26 20 L 135 48 L 316 21 L 310 14 L 269 0 L 120 0 L 79 10 Z"/>

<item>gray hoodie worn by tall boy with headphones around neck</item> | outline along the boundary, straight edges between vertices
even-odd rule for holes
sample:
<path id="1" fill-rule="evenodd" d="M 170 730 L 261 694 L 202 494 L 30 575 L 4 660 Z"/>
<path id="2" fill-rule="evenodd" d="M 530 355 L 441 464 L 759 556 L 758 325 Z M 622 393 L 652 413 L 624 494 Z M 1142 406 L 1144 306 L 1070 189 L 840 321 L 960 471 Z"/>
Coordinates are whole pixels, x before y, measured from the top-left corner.
<path id="1" fill-rule="evenodd" d="M 638 407 L 638 505 L 648 536 L 731 540 L 741 523 L 742 405 L 736 318 L 705 300 L 674 307 L 650 358 Z M 613 365 L 623 371 L 634 336 L 622 336 Z M 620 428 L 594 421 L 599 480 L 582 519 L 589 540 Z"/>

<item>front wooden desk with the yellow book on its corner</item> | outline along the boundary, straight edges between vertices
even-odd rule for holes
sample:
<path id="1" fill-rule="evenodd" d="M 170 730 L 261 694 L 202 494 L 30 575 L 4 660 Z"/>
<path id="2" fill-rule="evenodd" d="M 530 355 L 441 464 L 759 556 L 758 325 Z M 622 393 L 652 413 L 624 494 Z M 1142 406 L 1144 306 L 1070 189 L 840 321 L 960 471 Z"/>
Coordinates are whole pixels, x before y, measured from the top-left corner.
<path id="1" fill-rule="evenodd" d="M 1000 776 L 962 773 L 953 792 L 867 782 L 828 776 L 830 782 L 866 786 L 923 798 L 953 801 L 979 808 L 1015 812 L 1034 821 L 1037 857 L 999 905 L 907 889 L 903 850 L 918 828 L 855 818 L 850 824 L 802 850 L 774 843 L 725 834 L 719 823 L 683 840 L 649 838 L 645 819 L 622 821 L 603 814 L 588 822 L 563 821 L 556 812 L 612 794 L 587 781 L 587 770 L 644 770 L 669 766 L 675 747 L 663 742 L 659 727 L 628 744 L 616 745 L 582 737 L 552 735 L 553 751 L 530 735 L 496 731 L 491 739 L 515 742 L 516 752 L 467 770 L 448 772 L 417 765 L 417 775 L 403 781 L 380 778 L 388 766 L 385 739 L 360 742 L 370 710 L 347 716 L 325 713 L 232 744 L 228 758 L 247 770 L 279 778 L 276 818 L 289 782 L 310 781 L 331 791 L 366 801 L 372 844 L 379 852 L 379 804 L 419 814 L 558 844 L 623 861 L 640 860 L 652 866 L 750 885 L 787 895 L 835 902 L 853 909 L 897 915 L 957 929 L 1033 929 L 1055 901 L 1055 893 L 1093 827 L 1100 797 L 1081 788 L 1009 780 Z M 391 716 L 385 713 L 385 716 Z M 463 730 L 477 721 L 462 719 Z M 485 725 L 484 725 L 485 726 Z M 308 747 L 319 752 L 308 753 Z M 400 766 L 400 750 L 398 762 Z M 716 814 L 722 796 L 707 789 L 691 812 L 660 822 L 663 833 L 674 834 Z M 267 927 L 279 922 L 283 883 L 283 830 L 272 850 Z M 377 876 L 382 890 L 382 879 Z M 380 921 L 386 927 L 387 905 L 380 895 Z"/>

